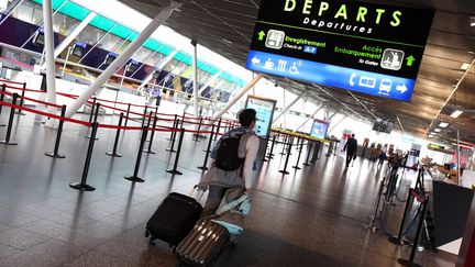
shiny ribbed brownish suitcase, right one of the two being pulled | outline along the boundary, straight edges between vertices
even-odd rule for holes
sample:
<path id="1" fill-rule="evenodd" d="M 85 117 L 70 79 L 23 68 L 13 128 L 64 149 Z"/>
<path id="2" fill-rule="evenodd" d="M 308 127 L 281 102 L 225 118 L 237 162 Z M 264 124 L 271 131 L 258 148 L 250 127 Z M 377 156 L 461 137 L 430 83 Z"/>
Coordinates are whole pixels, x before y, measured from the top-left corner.
<path id="1" fill-rule="evenodd" d="M 191 266 L 209 266 L 230 242 L 230 233 L 209 220 L 198 222 L 176 247 L 178 260 Z"/>

